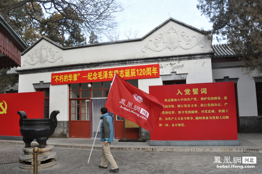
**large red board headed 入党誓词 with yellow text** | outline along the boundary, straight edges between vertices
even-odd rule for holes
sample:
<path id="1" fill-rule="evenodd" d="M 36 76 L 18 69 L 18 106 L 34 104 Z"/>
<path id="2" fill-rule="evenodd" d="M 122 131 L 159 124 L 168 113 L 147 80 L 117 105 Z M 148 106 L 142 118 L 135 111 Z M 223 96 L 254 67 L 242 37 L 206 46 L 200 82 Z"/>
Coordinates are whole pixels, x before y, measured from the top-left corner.
<path id="1" fill-rule="evenodd" d="M 149 86 L 164 104 L 151 140 L 237 140 L 234 82 Z"/>

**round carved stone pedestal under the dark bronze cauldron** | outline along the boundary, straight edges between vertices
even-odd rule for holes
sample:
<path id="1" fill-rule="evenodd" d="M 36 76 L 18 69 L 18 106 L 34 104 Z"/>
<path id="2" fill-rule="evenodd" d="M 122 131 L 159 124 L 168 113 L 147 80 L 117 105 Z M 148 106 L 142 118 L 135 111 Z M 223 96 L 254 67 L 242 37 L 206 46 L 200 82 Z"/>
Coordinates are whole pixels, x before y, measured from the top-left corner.
<path id="1" fill-rule="evenodd" d="M 34 145 L 31 147 L 23 147 L 24 154 L 20 155 L 19 160 L 27 160 L 33 158 L 33 148 L 39 145 Z M 56 153 L 52 152 L 54 146 L 46 145 L 45 148 L 39 148 L 38 152 L 38 169 L 48 168 L 56 165 Z M 21 162 L 19 168 L 29 169 L 33 165 L 33 159 L 28 160 L 28 162 Z"/>

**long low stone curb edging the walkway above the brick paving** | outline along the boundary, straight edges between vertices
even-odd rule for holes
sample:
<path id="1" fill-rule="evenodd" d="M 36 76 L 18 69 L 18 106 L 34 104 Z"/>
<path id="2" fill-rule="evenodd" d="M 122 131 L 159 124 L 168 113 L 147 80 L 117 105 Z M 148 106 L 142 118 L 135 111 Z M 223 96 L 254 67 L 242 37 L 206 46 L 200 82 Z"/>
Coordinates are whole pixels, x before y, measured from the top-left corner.
<path id="1" fill-rule="evenodd" d="M 15 140 L 0 140 L 3 145 L 20 145 L 24 146 L 24 142 Z M 32 142 L 32 145 L 38 145 Z M 48 142 L 57 148 L 75 148 L 75 149 L 88 149 L 91 150 L 92 144 L 69 144 L 69 143 L 52 143 Z M 102 150 L 102 145 L 94 145 L 94 150 Z M 241 147 L 241 146 L 110 146 L 112 151 L 137 151 L 137 152 L 227 152 L 227 153 L 262 153 L 262 147 Z"/>

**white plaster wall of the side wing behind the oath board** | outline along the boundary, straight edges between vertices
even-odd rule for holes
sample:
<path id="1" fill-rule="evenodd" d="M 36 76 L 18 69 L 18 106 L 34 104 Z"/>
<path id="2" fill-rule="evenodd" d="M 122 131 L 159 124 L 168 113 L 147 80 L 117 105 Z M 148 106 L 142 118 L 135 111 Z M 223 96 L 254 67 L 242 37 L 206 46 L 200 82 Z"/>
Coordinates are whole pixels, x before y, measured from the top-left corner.
<path id="1" fill-rule="evenodd" d="M 239 62 L 236 62 L 239 64 Z M 232 63 L 231 63 L 232 64 Z M 214 66 L 224 66 L 225 63 L 214 63 Z M 243 75 L 242 67 L 238 68 L 221 68 L 213 69 L 213 82 L 214 79 L 223 79 L 224 77 L 238 78 L 237 90 L 238 90 L 238 110 L 239 116 L 257 116 L 257 104 L 256 104 L 256 86 L 255 81 L 248 75 Z"/>

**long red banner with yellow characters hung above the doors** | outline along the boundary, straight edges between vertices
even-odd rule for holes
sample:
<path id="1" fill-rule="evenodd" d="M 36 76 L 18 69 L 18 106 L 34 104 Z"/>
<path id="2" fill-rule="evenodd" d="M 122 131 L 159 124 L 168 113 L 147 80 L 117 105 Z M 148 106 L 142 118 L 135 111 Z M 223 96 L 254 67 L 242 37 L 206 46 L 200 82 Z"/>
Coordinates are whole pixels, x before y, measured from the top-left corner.
<path id="1" fill-rule="evenodd" d="M 118 75 L 125 80 L 160 77 L 159 64 L 154 64 L 98 70 L 73 71 L 66 73 L 52 73 L 51 85 L 112 81 L 114 79 L 115 73 L 118 73 Z"/>

